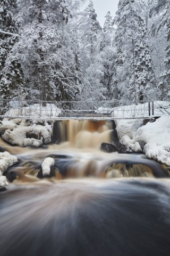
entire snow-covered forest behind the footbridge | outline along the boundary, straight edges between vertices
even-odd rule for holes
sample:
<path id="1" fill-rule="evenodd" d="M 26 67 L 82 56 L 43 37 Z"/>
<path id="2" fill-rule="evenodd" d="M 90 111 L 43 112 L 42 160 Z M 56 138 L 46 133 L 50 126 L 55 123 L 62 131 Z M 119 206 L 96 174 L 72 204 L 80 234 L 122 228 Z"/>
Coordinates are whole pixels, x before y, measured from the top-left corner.
<path id="1" fill-rule="evenodd" d="M 169 0 L 111 12 L 101 28 L 92 0 L 0 0 L 0 97 L 168 100 Z"/>

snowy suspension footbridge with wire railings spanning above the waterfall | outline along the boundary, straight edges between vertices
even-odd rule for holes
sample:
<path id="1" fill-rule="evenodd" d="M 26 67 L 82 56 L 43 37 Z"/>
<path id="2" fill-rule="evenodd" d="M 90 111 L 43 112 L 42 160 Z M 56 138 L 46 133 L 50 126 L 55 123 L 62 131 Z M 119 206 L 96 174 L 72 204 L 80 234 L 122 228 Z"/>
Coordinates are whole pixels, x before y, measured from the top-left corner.
<path id="1" fill-rule="evenodd" d="M 157 101 L 132 103 L 127 101 L 31 101 L 0 100 L 0 118 L 39 120 L 66 119 L 137 119 L 156 117 L 155 109 L 169 114 Z"/>

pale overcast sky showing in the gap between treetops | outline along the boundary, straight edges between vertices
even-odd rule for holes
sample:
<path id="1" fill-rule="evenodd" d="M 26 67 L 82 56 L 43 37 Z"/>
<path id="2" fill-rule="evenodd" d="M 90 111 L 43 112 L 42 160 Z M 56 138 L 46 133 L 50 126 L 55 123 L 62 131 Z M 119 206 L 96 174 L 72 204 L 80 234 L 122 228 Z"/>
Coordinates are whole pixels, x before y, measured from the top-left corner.
<path id="1" fill-rule="evenodd" d="M 117 4 L 119 0 L 93 0 L 94 9 L 97 13 L 97 19 L 100 22 L 100 26 L 103 27 L 105 16 L 108 11 L 111 12 L 112 17 L 115 16 L 117 11 Z M 89 0 L 86 1 L 86 5 L 89 4 Z"/>

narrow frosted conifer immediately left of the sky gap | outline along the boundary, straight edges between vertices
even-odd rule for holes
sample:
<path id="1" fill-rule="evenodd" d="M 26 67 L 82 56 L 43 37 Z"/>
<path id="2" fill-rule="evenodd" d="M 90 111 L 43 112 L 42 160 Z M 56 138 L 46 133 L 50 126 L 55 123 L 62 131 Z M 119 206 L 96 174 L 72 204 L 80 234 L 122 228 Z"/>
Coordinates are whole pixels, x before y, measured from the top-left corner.
<path id="1" fill-rule="evenodd" d="M 83 84 L 81 98 L 99 100 L 104 97 L 102 85 L 100 83 L 101 71 L 97 67 L 96 56 L 99 53 L 99 36 L 101 27 L 97 20 L 97 14 L 92 0 L 86 9 L 87 20 L 82 35 L 81 58 L 83 59 Z M 96 72 L 96 73 L 95 73 Z"/>

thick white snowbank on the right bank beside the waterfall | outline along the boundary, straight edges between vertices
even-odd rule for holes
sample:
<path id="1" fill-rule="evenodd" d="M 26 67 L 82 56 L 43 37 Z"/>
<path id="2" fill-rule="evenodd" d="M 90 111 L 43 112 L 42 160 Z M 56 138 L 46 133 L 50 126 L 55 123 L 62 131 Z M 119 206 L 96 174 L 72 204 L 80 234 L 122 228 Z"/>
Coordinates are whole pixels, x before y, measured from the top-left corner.
<path id="1" fill-rule="evenodd" d="M 123 145 L 138 152 L 141 150 L 141 144 L 143 153 L 148 158 L 170 166 L 170 115 L 163 115 L 155 122 L 141 127 L 138 127 L 138 119 L 133 120 L 131 126 L 129 120 L 117 120 L 116 123 L 118 137 Z M 134 125 L 135 123 L 137 125 Z M 133 130 L 130 131 L 130 127 L 133 127 Z M 125 135 L 126 133 L 129 135 Z"/>

